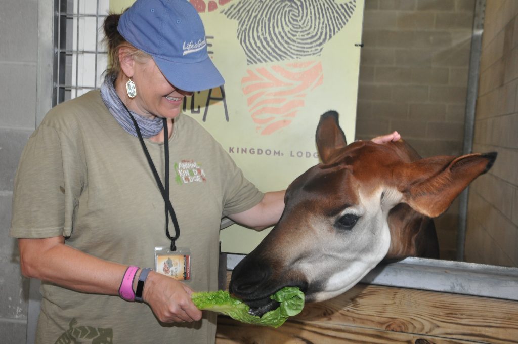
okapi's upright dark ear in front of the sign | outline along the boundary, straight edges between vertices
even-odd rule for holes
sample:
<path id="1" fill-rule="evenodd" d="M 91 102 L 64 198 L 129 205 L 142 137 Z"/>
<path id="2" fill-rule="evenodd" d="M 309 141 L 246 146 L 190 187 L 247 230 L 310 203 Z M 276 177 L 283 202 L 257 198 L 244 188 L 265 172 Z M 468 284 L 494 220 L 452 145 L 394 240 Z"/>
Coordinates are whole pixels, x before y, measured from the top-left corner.
<path id="1" fill-rule="evenodd" d="M 320 159 L 324 164 L 332 162 L 333 153 L 347 146 L 346 135 L 343 134 L 338 124 L 338 112 L 327 111 L 320 116 L 319 125 L 316 127 L 316 147 L 318 147 Z"/>

